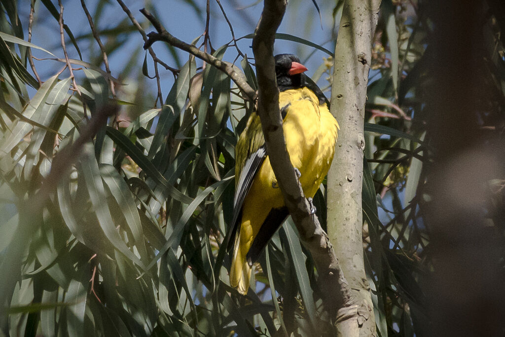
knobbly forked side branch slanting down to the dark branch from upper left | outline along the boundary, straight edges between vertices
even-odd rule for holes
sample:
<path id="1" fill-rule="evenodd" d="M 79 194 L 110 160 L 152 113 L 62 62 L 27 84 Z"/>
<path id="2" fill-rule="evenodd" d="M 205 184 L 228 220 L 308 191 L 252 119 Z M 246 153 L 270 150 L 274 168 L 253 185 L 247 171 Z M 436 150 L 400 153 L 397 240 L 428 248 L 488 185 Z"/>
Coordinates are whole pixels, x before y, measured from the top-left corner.
<path id="1" fill-rule="evenodd" d="M 156 41 L 165 41 L 168 44 L 173 45 L 174 47 L 179 48 L 180 50 L 188 52 L 189 54 L 194 55 L 198 59 L 203 60 L 213 65 L 214 67 L 218 68 L 219 70 L 230 76 L 233 82 L 235 82 L 235 84 L 240 88 L 240 90 L 242 90 L 242 92 L 245 93 L 245 95 L 251 102 L 256 101 L 257 99 L 256 91 L 247 83 L 244 74 L 238 72 L 231 63 L 221 61 L 210 54 L 200 51 L 194 45 L 179 40 L 177 37 L 167 32 L 163 27 L 163 25 L 160 23 L 160 21 L 158 21 L 158 19 L 156 19 L 145 8 L 141 9 L 140 13 L 142 13 L 158 31 L 157 33 L 150 32 L 149 34 L 147 34 L 148 39 L 147 42 L 144 43 L 144 49 L 149 48 Z"/>

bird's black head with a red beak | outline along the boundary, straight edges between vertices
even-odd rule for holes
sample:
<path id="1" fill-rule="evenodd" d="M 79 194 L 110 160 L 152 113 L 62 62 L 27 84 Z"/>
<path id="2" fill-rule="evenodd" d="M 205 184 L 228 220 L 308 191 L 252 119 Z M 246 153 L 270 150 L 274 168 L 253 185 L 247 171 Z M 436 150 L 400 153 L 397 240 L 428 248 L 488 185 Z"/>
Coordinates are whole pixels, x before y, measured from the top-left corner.
<path id="1" fill-rule="evenodd" d="M 307 70 L 300 59 L 292 54 L 279 54 L 275 59 L 275 74 L 280 91 L 304 86 L 302 73 Z"/>

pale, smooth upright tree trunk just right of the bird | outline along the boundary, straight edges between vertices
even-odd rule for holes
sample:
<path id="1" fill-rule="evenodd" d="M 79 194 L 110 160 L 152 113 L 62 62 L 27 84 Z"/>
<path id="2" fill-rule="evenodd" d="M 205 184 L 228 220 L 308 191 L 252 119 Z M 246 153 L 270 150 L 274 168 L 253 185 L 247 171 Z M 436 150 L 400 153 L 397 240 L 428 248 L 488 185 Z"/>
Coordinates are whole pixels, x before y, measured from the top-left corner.
<path id="1" fill-rule="evenodd" d="M 337 335 L 375 335 L 370 286 L 363 261 L 363 133 L 371 46 L 380 0 L 345 1 L 335 47 L 331 113 L 340 124 L 328 173 L 328 234 L 357 311 L 336 322 Z"/>

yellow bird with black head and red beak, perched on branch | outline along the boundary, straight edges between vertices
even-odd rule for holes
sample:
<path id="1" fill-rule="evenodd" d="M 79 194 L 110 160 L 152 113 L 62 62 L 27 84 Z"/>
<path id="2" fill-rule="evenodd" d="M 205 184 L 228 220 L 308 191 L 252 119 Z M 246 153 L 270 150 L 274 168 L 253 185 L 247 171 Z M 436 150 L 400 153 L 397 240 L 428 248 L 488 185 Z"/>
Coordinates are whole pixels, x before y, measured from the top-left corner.
<path id="1" fill-rule="evenodd" d="M 330 168 L 339 127 L 328 110 L 323 92 L 304 74 L 306 70 L 294 55 L 275 56 L 287 151 L 291 164 L 298 170 L 305 196 L 313 198 Z M 270 165 L 260 117 L 256 113 L 249 116 L 240 134 L 235 160 L 232 234 L 227 247 L 228 250 L 233 247 L 230 284 L 245 295 L 252 263 L 289 215 Z"/>

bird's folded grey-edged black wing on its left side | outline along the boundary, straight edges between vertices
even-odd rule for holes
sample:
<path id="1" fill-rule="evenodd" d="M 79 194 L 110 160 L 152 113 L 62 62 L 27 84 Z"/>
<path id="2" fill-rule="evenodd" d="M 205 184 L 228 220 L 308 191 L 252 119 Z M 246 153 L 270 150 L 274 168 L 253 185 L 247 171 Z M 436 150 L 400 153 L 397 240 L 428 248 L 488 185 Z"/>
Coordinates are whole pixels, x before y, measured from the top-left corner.
<path id="1" fill-rule="evenodd" d="M 230 251 L 233 246 L 236 233 L 240 230 L 240 218 L 242 217 L 242 204 L 244 203 L 245 196 L 249 192 L 252 185 L 252 180 L 256 173 L 263 164 L 267 157 L 267 148 L 265 145 L 261 146 L 255 153 L 251 154 L 245 161 L 244 167 L 240 171 L 237 186 L 235 188 L 235 197 L 233 198 L 233 215 L 231 218 L 231 234 L 228 235 L 228 242 L 226 243 L 226 250 Z"/>

